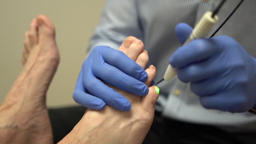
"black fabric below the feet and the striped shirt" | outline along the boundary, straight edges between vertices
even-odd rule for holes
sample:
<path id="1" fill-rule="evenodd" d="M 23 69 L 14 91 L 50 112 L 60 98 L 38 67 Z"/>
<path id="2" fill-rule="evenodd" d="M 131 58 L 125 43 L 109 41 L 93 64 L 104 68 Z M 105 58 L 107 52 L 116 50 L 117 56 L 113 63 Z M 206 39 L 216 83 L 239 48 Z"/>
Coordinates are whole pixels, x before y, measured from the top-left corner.
<path id="1" fill-rule="evenodd" d="M 65 137 L 79 122 L 86 108 L 83 106 L 49 109 L 53 125 L 54 143 Z M 256 131 L 228 132 L 210 125 L 185 123 L 168 119 L 155 112 L 154 122 L 143 144 L 155 143 L 256 143 Z"/>

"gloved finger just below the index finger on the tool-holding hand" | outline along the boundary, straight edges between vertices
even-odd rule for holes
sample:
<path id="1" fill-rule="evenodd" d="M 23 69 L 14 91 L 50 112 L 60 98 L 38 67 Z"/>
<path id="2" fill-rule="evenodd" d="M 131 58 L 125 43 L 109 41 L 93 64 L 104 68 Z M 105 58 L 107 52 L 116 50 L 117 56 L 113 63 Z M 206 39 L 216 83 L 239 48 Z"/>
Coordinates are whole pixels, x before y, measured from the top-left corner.
<path id="1" fill-rule="evenodd" d="M 197 82 L 205 79 L 210 79 L 214 75 L 217 75 L 222 69 L 220 62 L 218 62 L 215 56 L 208 58 L 205 61 L 195 62 L 185 67 L 178 69 L 179 80 L 183 82 Z"/>

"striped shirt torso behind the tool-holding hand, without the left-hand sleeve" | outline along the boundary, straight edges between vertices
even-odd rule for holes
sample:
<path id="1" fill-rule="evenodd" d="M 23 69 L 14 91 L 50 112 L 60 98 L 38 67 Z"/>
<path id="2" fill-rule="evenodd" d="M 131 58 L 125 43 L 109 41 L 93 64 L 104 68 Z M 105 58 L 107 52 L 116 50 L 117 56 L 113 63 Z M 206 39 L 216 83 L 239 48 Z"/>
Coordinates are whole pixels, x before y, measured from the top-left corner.
<path id="1" fill-rule="evenodd" d="M 220 0 L 140 0 L 137 1 L 139 22 L 143 32 L 145 49 L 149 53 L 149 63 L 155 65 L 157 75 L 155 81 L 164 76 L 168 65 L 168 59 L 179 47 L 175 26 L 180 22 L 188 23 L 195 27 L 202 15 L 217 7 Z M 240 0 L 227 1 L 218 16 L 219 22 L 212 29 L 211 35 L 220 24 L 235 9 Z M 247 0 L 243 2 L 236 13 L 220 29 L 216 35 L 229 35 L 236 39 L 250 55 L 256 57 L 256 1 Z M 177 77 L 176 77 L 177 79 Z M 178 80 L 159 85 L 162 94 L 168 95 L 164 113 L 167 116 L 184 119 L 185 121 L 205 122 L 213 124 L 249 123 L 256 122 L 256 117 L 251 113 L 237 113 L 232 115 L 228 112 L 217 110 L 206 110 L 200 105 L 199 98 L 189 88 Z M 180 88 L 179 88 L 180 87 Z M 179 97 L 174 96 L 178 92 Z"/>

